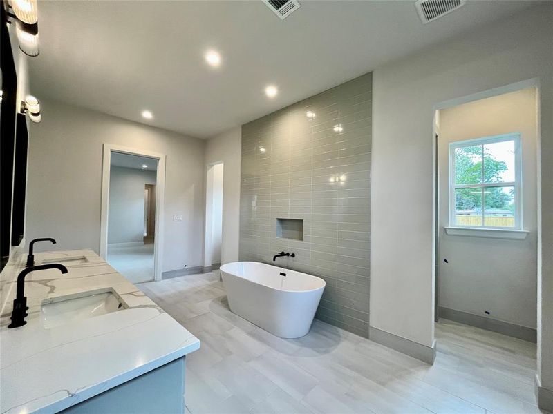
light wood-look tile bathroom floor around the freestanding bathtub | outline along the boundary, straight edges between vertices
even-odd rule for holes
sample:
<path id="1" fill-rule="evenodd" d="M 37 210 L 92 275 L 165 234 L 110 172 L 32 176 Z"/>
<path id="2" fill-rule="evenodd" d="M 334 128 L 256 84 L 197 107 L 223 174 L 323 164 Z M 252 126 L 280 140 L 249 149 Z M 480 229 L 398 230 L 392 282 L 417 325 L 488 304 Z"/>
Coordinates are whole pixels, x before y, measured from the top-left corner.
<path id="1" fill-rule="evenodd" d="M 229 311 L 217 272 L 138 285 L 201 341 L 187 412 L 539 413 L 536 346 L 442 320 L 433 366 L 317 319 L 281 339 Z"/>

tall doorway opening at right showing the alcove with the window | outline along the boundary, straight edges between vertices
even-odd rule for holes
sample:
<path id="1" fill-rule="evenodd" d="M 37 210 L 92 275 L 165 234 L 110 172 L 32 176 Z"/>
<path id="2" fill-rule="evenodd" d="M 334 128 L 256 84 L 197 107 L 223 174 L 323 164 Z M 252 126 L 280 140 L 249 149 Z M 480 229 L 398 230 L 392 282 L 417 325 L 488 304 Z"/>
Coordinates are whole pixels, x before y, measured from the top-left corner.
<path id="1" fill-rule="evenodd" d="M 434 119 L 438 350 L 485 372 L 493 392 L 509 393 L 507 373 L 532 401 L 538 119 L 532 81 L 449 101 Z"/>

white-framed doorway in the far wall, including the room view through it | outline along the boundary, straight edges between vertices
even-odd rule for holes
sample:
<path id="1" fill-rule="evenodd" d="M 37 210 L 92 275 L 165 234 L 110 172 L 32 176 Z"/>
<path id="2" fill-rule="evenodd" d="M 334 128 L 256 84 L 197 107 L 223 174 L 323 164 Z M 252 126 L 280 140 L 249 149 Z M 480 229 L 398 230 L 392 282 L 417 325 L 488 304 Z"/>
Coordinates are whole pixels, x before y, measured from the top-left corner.
<path id="1" fill-rule="evenodd" d="M 100 255 L 133 284 L 161 279 L 165 155 L 104 144 Z"/>

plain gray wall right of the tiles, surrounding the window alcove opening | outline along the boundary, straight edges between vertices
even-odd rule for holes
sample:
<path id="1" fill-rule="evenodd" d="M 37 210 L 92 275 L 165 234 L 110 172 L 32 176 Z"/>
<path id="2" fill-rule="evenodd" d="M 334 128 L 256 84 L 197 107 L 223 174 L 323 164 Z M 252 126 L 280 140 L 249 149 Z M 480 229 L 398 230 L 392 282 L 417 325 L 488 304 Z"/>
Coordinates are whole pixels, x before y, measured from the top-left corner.
<path id="1" fill-rule="evenodd" d="M 541 324 L 543 328 L 542 380 L 550 389 L 553 389 L 552 11 L 553 3 L 545 2 L 512 19 L 475 29 L 375 69 L 371 170 L 371 326 L 432 346 L 435 105 L 523 79 L 539 78 L 543 214 L 541 225 L 538 224 L 542 229 L 538 240 L 541 237 L 543 252 L 538 253 L 541 254 L 538 327 Z M 410 215 L 402 215 L 406 198 Z M 538 355 L 540 352 L 538 347 Z"/>

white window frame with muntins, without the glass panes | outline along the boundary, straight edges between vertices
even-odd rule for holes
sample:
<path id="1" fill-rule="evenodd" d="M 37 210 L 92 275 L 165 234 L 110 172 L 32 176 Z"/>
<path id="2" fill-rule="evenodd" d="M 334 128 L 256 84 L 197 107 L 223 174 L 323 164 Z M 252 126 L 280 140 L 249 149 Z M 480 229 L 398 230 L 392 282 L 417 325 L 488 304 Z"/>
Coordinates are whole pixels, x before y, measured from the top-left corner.
<path id="1" fill-rule="evenodd" d="M 456 184 L 455 182 L 455 150 L 466 146 L 494 144 L 496 142 L 514 141 L 514 177 L 515 181 L 501 183 L 480 183 L 480 184 Z M 482 159 L 482 168 L 484 168 Z M 495 135 L 493 137 L 482 137 L 467 139 L 466 141 L 456 141 L 449 144 L 449 228 L 466 228 L 478 230 L 523 230 L 523 206 L 522 206 L 522 162 L 521 162 L 521 135 L 519 133 L 510 133 L 504 135 Z M 487 187 L 513 187 L 514 186 L 514 227 L 496 227 L 484 225 L 484 210 L 482 208 L 482 226 L 458 226 L 456 224 L 456 199 L 455 191 L 458 188 L 481 188 L 482 206 L 484 203 L 483 191 Z"/>

